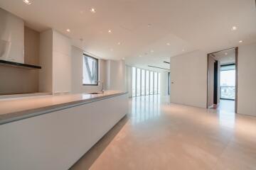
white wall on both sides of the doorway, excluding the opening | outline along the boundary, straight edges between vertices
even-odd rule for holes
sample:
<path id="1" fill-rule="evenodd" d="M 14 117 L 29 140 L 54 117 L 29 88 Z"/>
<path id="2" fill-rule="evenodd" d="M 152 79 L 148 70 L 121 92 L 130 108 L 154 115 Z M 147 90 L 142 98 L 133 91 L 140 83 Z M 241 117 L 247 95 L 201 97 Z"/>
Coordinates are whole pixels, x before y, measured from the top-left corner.
<path id="1" fill-rule="evenodd" d="M 207 52 L 171 57 L 171 102 L 206 108 Z M 238 47 L 238 113 L 256 116 L 256 43 Z"/>

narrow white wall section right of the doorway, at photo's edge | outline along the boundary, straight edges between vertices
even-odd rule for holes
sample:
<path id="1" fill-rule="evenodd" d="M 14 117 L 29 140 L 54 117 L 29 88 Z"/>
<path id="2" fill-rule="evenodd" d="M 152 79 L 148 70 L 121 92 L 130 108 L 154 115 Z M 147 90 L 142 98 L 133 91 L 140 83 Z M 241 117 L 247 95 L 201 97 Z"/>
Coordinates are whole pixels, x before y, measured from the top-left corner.
<path id="1" fill-rule="evenodd" d="M 256 116 L 256 43 L 238 47 L 238 113 Z"/>

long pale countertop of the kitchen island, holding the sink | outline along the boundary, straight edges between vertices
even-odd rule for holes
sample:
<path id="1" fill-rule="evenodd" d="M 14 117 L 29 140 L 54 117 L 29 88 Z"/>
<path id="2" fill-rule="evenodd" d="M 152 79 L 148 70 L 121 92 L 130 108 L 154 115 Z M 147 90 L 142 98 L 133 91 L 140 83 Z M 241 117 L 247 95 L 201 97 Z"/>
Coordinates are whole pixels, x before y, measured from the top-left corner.
<path id="1" fill-rule="evenodd" d="M 104 94 L 65 94 L 1 99 L 0 125 L 122 94 L 126 92 L 105 91 Z"/>

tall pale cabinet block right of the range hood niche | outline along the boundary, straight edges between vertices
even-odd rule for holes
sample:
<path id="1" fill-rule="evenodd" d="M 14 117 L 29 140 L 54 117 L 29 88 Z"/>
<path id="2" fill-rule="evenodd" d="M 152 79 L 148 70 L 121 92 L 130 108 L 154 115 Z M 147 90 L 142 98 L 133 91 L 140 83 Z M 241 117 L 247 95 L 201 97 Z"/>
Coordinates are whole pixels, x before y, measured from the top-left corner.
<path id="1" fill-rule="evenodd" d="M 56 94 L 71 91 L 70 56 L 70 38 L 52 29 L 40 33 L 40 92 Z"/>

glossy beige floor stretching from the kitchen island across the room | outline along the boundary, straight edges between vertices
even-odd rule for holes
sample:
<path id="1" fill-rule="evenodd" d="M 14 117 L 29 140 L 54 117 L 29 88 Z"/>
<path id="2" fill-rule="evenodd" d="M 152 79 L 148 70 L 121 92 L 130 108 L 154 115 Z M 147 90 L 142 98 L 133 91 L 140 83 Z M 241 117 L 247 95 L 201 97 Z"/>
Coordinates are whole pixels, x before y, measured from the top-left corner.
<path id="1" fill-rule="evenodd" d="M 256 169 L 256 118 L 143 96 L 71 169 Z"/>

